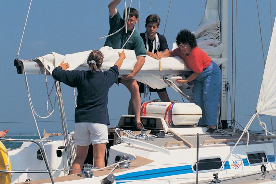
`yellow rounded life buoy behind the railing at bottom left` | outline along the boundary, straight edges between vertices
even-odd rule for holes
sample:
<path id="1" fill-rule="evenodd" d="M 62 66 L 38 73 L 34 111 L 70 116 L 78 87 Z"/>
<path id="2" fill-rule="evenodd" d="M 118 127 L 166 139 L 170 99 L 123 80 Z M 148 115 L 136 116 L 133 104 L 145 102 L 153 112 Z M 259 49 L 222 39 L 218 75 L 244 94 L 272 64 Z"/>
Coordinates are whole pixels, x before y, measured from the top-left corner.
<path id="1" fill-rule="evenodd" d="M 5 145 L 0 141 L 0 170 L 11 171 L 10 157 Z M 11 182 L 11 173 L 2 173 L 0 172 L 0 183 L 1 184 L 10 184 Z"/>

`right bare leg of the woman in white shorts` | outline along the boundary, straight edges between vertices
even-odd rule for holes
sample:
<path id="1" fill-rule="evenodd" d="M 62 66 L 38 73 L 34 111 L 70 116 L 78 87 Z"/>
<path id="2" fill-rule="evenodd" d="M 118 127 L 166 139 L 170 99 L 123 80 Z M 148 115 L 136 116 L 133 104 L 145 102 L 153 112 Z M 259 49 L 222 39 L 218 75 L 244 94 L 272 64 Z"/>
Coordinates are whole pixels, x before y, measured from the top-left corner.
<path id="1" fill-rule="evenodd" d="M 95 167 L 98 167 L 98 168 L 105 167 L 106 143 L 94 144 L 92 146 L 93 146 L 93 156 L 95 159 Z"/>

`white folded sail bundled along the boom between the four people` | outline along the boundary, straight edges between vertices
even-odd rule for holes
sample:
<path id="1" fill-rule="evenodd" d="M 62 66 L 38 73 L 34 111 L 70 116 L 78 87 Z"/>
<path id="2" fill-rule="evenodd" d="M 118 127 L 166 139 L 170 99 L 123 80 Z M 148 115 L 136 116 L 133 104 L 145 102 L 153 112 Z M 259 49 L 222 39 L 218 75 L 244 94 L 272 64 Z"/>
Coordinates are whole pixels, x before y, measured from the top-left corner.
<path id="1" fill-rule="evenodd" d="M 70 68 L 67 70 L 75 69 L 86 69 L 88 64 L 86 63 L 87 57 L 92 50 L 77 52 L 72 54 L 67 54 L 65 56 L 58 54 L 56 52 L 51 52 L 51 54 L 41 56 L 38 59 L 42 61 L 45 68 L 52 74 L 55 67 L 59 66 L 62 61 L 69 63 Z M 119 59 L 118 52 L 122 52 L 123 49 L 113 49 L 111 47 L 102 47 L 100 51 L 104 54 L 104 62 L 102 63 L 102 69 L 108 70 L 110 67 L 114 66 L 114 63 Z M 122 75 L 128 75 L 132 72 L 137 58 L 134 50 L 125 49 L 126 59 L 124 60 L 120 70 L 119 77 Z M 190 68 L 186 66 L 180 57 L 168 57 L 160 59 L 162 71 L 159 70 L 159 60 L 146 56 L 145 63 L 139 73 L 133 78 L 138 82 L 143 82 L 148 84 L 152 88 L 165 88 L 167 83 L 163 81 L 163 77 L 171 79 L 176 75 L 189 74 L 191 72 Z M 81 66 L 79 68 L 79 66 Z M 180 77 L 181 78 L 181 77 Z M 173 82 L 177 86 L 181 86 L 176 82 L 176 78 L 173 78 Z"/>

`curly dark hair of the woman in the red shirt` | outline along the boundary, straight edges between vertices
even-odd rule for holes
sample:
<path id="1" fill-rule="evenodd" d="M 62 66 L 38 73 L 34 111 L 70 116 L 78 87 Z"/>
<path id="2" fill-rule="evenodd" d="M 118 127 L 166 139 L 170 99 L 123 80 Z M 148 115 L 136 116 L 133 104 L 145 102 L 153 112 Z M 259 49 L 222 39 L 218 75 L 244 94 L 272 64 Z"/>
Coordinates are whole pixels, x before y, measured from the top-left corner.
<path id="1" fill-rule="evenodd" d="M 183 44 L 189 44 L 191 48 L 197 47 L 197 41 L 193 33 L 187 29 L 182 29 L 176 36 L 176 44 L 179 45 L 180 42 Z"/>

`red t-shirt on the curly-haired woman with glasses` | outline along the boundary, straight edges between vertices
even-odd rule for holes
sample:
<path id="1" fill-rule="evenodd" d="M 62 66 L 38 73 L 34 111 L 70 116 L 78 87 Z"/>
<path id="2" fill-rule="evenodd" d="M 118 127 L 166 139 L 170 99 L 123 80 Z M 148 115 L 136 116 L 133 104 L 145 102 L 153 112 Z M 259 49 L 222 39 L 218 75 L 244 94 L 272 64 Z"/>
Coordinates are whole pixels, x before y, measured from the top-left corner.
<path id="1" fill-rule="evenodd" d="M 194 72 L 201 73 L 203 69 L 209 67 L 212 59 L 208 56 L 206 52 L 198 47 L 192 49 L 189 56 L 183 54 L 180 48 L 176 48 L 170 52 L 170 56 L 181 57 L 186 65 Z"/>

